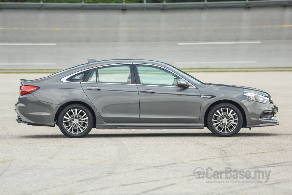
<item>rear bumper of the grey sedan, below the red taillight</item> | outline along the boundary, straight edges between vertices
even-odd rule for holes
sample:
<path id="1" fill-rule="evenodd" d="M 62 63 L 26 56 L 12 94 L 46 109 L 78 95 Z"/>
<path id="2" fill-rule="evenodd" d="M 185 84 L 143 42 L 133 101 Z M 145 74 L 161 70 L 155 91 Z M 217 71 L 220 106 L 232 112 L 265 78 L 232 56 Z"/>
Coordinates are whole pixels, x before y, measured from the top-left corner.
<path id="1" fill-rule="evenodd" d="M 60 106 L 37 100 L 33 94 L 18 98 L 14 106 L 18 123 L 55 126 L 55 114 Z"/>

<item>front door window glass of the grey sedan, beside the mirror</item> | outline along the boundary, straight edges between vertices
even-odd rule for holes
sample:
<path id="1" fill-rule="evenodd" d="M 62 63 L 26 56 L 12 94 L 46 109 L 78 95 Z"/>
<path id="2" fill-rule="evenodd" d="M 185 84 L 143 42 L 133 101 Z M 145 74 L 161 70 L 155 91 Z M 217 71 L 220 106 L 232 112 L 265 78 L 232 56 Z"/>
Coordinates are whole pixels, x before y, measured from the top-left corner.
<path id="1" fill-rule="evenodd" d="M 175 74 L 156 66 L 137 65 L 137 71 L 142 85 L 177 86 L 179 79 Z"/>

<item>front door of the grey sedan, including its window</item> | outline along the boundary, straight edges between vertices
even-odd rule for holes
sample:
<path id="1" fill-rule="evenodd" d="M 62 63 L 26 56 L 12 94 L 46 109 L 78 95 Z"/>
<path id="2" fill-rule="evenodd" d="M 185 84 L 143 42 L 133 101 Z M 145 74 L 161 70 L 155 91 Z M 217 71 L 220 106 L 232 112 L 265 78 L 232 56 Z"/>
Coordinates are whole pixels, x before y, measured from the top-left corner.
<path id="1" fill-rule="evenodd" d="M 156 65 L 135 65 L 140 98 L 139 123 L 198 123 L 200 91 L 177 87 L 181 77 Z"/>

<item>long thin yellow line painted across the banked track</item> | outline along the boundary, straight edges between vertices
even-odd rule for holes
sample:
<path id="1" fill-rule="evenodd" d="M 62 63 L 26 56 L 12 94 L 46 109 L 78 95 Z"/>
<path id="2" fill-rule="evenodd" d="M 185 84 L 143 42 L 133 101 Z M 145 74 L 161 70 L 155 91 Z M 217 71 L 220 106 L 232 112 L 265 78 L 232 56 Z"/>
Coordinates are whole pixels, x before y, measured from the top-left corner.
<path id="1" fill-rule="evenodd" d="M 122 28 L 12 28 L 0 27 L 0 30 L 174 30 L 174 29 L 224 29 L 224 28 L 273 28 L 273 27 L 292 27 L 287 25 L 264 25 L 264 26 L 238 26 L 238 27 L 122 27 Z"/>

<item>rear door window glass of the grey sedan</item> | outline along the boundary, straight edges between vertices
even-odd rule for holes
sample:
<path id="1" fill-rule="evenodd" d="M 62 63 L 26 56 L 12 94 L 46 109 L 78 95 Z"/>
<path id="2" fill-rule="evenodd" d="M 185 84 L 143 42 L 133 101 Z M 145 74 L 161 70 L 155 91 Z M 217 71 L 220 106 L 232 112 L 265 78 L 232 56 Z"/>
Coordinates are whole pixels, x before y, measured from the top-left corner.
<path id="1" fill-rule="evenodd" d="M 96 68 L 92 71 L 88 82 L 131 84 L 130 65 L 116 65 Z"/>

